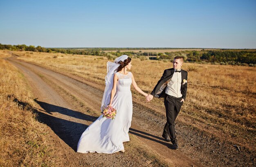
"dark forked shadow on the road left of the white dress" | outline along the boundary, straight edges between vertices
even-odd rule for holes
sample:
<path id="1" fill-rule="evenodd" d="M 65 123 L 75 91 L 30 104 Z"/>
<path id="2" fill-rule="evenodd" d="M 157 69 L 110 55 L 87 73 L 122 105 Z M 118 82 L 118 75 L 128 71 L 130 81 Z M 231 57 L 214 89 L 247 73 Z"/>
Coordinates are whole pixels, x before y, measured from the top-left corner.
<path id="1" fill-rule="evenodd" d="M 42 101 L 35 100 L 47 113 L 43 113 L 39 110 L 34 111 L 38 121 L 48 125 L 54 133 L 61 138 L 67 145 L 69 145 L 74 151 L 76 151 L 77 143 L 80 136 L 90 123 L 81 123 L 85 121 L 94 122 L 98 117 L 83 114 L 78 111 L 70 110 L 60 106 L 52 105 Z M 58 118 L 52 115 L 52 112 L 58 112 L 67 116 Z M 74 117 L 76 119 L 70 118 Z M 81 121 L 82 120 L 82 121 Z"/>

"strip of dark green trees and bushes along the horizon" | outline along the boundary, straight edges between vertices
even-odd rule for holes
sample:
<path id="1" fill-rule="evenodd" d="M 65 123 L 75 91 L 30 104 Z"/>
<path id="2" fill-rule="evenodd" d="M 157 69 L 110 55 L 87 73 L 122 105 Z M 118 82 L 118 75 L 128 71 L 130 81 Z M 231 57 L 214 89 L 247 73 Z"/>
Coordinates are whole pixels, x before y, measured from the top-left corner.
<path id="1" fill-rule="evenodd" d="M 88 48 L 79 50 L 77 48 L 45 48 L 41 46 L 27 46 L 22 45 L 6 45 L 0 44 L 0 49 L 11 51 L 32 51 L 32 52 L 47 52 L 47 53 L 65 53 L 76 55 L 95 55 L 106 56 L 108 59 L 113 59 L 121 55 L 128 55 L 133 57 L 156 57 L 157 60 L 173 59 L 173 57 L 180 55 L 185 58 L 186 62 L 201 62 L 201 63 L 219 63 L 219 64 L 231 64 L 231 65 L 244 65 L 255 66 L 256 64 L 256 50 L 255 49 L 218 49 L 218 50 L 204 50 L 201 51 L 177 51 L 177 52 L 134 52 L 134 51 L 119 51 L 120 48 L 108 48 L 109 50 L 118 50 L 116 52 L 106 53 L 102 48 Z M 106 48 L 105 48 L 106 49 Z M 123 48 L 122 48 L 123 49 Z M 135 48 L 132 48 L 135 50 Z M 149 48 L 148 48 L 149 49 Z M 150 50 L 157 50 L 156 48 L 150 48 Z M 158 48 L 163 49 L 163 48 Z M 169 48 L 164 48 L 169 49 Z M 173 49 L 173 48 L 172 48 Z M 129 49 L 127 49 L 129 50 Z M 138 50 L 145 50 L 145 48 L 138 48 Z"/>

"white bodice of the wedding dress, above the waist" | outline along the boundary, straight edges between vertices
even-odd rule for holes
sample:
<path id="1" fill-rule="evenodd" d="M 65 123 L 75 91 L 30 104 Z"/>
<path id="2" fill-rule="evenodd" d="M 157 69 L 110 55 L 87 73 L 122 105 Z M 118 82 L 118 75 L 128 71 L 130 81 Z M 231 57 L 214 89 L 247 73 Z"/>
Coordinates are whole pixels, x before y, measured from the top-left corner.
<path id="1" fill-rule="evenodd" d="M 132 84 L 132 73 L 128 72 L 127 75 L 116 73 L 118 77 L 117 91 L 130 91 L 130 85 Z"/>

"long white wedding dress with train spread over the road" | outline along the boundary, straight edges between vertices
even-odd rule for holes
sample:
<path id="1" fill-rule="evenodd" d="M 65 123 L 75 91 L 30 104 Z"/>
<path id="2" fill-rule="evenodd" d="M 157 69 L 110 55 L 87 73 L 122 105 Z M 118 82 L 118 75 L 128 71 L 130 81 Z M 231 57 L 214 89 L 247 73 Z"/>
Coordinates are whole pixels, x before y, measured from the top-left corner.
<path id="1" fill-rule="evenodd" d="M 119 80 L 112 101 L 112 107 L 117 110 L 115 119 L 103 118 L 101 115 L 94 121 L 80 137 L 77 152 L 112 154 L 124 149 L 123 142 L 130 141 L 128 132 L 132 121 L 132 73 L 116 74 Z"/>

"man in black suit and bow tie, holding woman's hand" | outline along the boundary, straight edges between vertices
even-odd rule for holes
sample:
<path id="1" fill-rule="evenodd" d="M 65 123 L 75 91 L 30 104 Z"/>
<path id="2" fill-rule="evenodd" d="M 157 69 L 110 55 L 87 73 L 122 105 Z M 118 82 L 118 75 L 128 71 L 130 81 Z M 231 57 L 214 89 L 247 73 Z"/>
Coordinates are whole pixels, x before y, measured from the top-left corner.
<path id="1" fill-rule="evenodd" d="M 182 65 L 183 57 L 174 57 L 173 68 L 164 70 L 154 90 L 146 97 L 147 101 L 151 101 L 153 97 L 164 98 L 167 122 L 162 137 L 173 143 L 173 149 L 178 149 L 174 121 L 186 99 L 187 90 L 188 72 L 181 69 Z"/>

